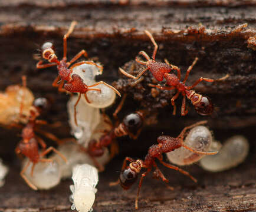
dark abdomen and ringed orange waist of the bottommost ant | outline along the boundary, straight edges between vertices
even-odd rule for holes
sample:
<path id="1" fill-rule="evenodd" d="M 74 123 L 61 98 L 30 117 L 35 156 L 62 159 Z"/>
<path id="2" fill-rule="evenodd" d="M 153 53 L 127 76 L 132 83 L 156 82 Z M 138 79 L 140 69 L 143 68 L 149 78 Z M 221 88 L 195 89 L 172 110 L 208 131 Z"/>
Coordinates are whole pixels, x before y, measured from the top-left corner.
<path id="1" fill-rule="evenodd" d="M 138 174 L 142 168 L 142 160 L 137 160 L 129 164 L 125 170 L 120 173 L 119 181 L 124 190 L 129 189 L 137 180 Z"/>

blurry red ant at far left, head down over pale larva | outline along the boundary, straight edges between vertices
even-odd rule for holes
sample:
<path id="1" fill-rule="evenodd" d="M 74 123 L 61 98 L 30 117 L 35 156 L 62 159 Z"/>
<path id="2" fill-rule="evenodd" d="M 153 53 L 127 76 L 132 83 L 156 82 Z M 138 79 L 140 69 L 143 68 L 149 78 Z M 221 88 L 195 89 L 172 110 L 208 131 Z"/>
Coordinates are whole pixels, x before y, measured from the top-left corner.
<path id="1" fill-rule="evenodd" d="M 21 177 L 25 180 L 25 182 L 29 185 L 29 187 L 31 187 L 34 190 L 37 190 L 37 187 L 34 184 L 32 184 L 24 174 L 25 171 L 28 169 L 30 163 L 32 163 L 31 176 L 33 175 L 33 171 L 37 163 L 52 162 L 51 159 L 44 158 L 44 155 L 50 153 L 50 151 L 54 151 L 55 153 L 60 155 L 60 157 L 63 158 L 63 160 L 67 163 L 67 160 L 63 154 L 61 154 L 54 147 L 49 147 L 46 149 L 46 144 L 44 143 L 44 140 L 42 140 L 42 138 L 35 135 L 35 131 L 40 131 L 36 128 L 36 126 L 38 124 L 46 124 L 46 122 L 43 120 L 37 120 L 37 117 L 40 115 L 40 112 L 41 112 L 41 107 L 45 106 L 45 104 L 46 104 L 46 101 L 44 101 L 43 98 L 38 98 L 35 100 L 34 107 L 31 107 L 31 110 L 30 110 L 28 123 L 22 129 L 22 133 L 21 133 L 22 140 L 19 141 L 17 147 L 15 148 L 15 153 L 17 155 L 23 154 L 29 158 L 28 163 L 21 170 L 20 174 L 21 174 Z M 17 126 L 19 127 L 19 125 Z M 44 131 L 40 131 L 40 132 L 44 134 L 46 137 L 49 137 L 52 140 L 56 140 L 54 135 Z M 38 153 L 38 143 L 42 147 L 42 153 Z"/>

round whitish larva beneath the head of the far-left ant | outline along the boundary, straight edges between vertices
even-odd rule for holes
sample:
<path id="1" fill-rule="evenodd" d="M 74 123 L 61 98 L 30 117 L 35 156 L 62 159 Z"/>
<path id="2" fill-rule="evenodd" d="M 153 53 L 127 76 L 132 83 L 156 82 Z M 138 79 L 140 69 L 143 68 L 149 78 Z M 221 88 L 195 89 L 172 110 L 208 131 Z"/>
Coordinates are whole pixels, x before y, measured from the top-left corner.
<path id="1" fill-rule="evenodd" d="M 50 158 L 51 159 L 51 158 Z M 28 158 L 23 161 L 23 167 L 28 163 Z M 25 171 L 25 176 L 34 184 L 38 189 L 48 190 L 55 187 L 60 183 L 61 180 L 61 170 L 60 165 L 53 160 L 53 162 L 39 162 L 35 164 L 33 175 L 31 176 L 32 163 L 29 165 L 28 169 Z"/>

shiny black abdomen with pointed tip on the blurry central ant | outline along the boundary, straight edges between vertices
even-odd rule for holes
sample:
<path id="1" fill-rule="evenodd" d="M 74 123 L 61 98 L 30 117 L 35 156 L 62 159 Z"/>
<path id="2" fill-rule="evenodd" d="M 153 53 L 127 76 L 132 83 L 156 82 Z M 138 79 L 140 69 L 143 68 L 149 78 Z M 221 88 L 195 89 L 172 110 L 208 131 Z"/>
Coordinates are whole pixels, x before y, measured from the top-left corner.
<path id="1" fill-rule="evenodd" d="M 130 137 L 136 139 L 140 133 L 143 124 L 143 115 L 141 112 L 133 112 L 126 115 L 123 119 L 123 124 L 129 131 Z"/>

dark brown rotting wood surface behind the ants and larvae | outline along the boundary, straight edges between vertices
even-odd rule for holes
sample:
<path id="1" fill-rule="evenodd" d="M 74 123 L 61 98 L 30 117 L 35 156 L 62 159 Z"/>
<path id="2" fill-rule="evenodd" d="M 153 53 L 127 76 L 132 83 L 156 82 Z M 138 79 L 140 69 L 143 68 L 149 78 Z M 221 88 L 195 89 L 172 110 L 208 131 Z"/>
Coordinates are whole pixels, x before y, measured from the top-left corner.
<path id="1" fill-rule="evenodd" d="M 120 118 L 129 111 L 147 108 L 150 111 L 147 120 L 155 123 L 143 128 L 138 141 L 120 140 L 123 141 L 120 156 L 100 175 L 94 210 L 133 211 L 136 186 L 128 192 L 108 186 L 109 181 L 116 180 L 116 171 L 120 170 L 123 158 L 143 158 L 162 132 L 176 136 L 185 125 L 206 118 L 216 139 L 224 141 L 231 135 L 242 134 L 250 140 L 251 155 L 247 161 L 219 174 L 207 173 L 197 165 L 186 168 L 198 178 L 199 184 L 164 169 L 175 190 L 169 191 L 160 181 L 148 177 L 142 188 L 140 211 L 254 211 L 255 14 L 255 1 L 1 1 L 0 89 L 20 83 L 21 75 L 27 75 L 28 87 L 36 97 L 46 95 L 53 100 L 52 110 L 45 119 L 61 121 L 62 127 L 51 131 L 58 137 L 70 136 L 65 106 L 68 96 L 51 87 L 57 70 L 55 67 L 35 69 L 35 58 L 37 49 L 45 41 L 54 42 L 55 51 L 61 58 L 63 35 L 70 22 L 76 20 L 78 25 L 68 38 L 68 58 L 86 49 L 90 58 L 104 65 L 104 73 L 99 79 L 112 82 L 120 92 L 128 94 Z M 133 75 L 140 71 L 142 65 L 134 62 L 139 51 L 152 54 L 153 45 L 143 32 L 145 29 L 152 32 L 159 45 L 156 60 L 168 59 L 180 67 L 182 77 L 193 59 L 199 58 L 189 75 L 188 85 L 199 77 L 216 79 L 230 75 L 225 81 L 202 82 L 195 88 L 216 105 L 211 117 L 198 115 L 189 101 L 189 114 L 180 117 L 182 98 L 176 100 L 177 115 L 173 117 L 170 98 L 174 91 L 149 87 L 149 83 L 158 83 L 149 71 L 137 85 L 120 74 L 119 67 Z M 115 107 L 107 112 L 111 114 Z M 13 166 L 6 185 L 0 188 L 0 211 L 69 211 L 68 185 L 71 181 L 64 181 L 51 191 L 35 193 L 19 177 L 19 167 L 14 165 L 18 133 L 0 131 L 0 157 Z"/>

